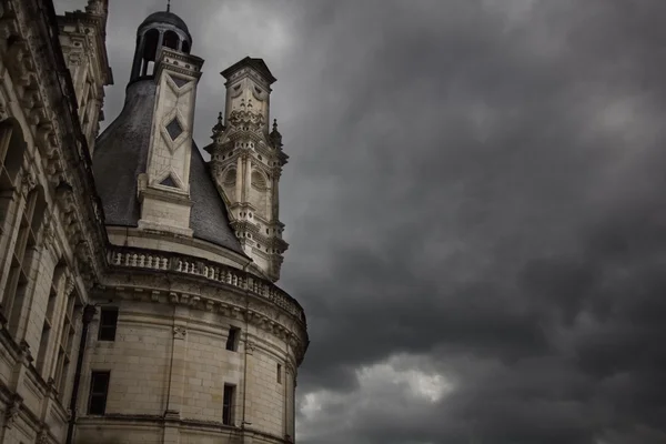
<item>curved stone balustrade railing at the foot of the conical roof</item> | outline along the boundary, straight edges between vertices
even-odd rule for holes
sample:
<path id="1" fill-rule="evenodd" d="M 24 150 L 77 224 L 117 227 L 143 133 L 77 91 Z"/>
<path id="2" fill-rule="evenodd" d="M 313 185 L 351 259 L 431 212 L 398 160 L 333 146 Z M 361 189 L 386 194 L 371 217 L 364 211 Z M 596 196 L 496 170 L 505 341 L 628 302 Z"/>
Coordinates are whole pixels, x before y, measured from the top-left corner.
<path id="1" fill-rule="evenodd" d="M 245 271 L 184 254 L 127 246 L 110 246 L 108 254 L 111 268 L 183 273 L 246 290 L 260 297 L 268 299 L 305 323 L 305 313 L 292 296 L 272 282 Z"/>

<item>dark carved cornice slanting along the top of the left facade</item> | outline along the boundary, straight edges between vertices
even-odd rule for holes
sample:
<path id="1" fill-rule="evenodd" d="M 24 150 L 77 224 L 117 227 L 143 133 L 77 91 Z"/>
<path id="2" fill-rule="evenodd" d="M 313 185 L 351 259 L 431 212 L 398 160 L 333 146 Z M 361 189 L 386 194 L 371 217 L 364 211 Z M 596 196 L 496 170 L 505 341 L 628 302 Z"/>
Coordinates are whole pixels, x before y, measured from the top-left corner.
<path id="1" fill-rule="evenodd" d="M 0 32 L 13 37 L 13 43 L 3 54 L 6 64 L 12 80 L 22 87 L 18 89 L 20 104 L 32 124 L 47 179 L 56 189 L 75 264 L 91 286 L 101 274 L 108 240 L 53 6 L 43 0 L 8 3 L 1 12 Z"/>

